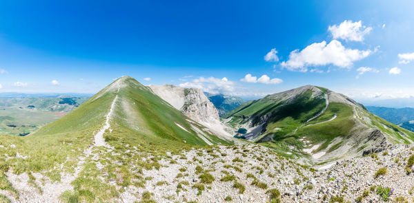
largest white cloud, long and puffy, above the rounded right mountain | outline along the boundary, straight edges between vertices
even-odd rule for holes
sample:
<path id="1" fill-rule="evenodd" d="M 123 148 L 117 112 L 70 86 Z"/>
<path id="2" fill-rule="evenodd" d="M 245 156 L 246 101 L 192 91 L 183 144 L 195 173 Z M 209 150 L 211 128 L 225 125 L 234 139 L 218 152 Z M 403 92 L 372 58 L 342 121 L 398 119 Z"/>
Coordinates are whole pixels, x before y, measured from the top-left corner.
<path id="1" fill-rule="evenodd" d="M 371 54 L 371 50 L 352 50 L 347 49 L 341 42 L 333 40 L 326 44 L 313 43 L 305 47 L 302 51 L 294 50 L 289 54 L 289 60 L 281 63 L 291 71 L 307 72 L 308 66 L 333 64 L 338 67 L 348 67 L 354 61 L 359 61 Z"/>

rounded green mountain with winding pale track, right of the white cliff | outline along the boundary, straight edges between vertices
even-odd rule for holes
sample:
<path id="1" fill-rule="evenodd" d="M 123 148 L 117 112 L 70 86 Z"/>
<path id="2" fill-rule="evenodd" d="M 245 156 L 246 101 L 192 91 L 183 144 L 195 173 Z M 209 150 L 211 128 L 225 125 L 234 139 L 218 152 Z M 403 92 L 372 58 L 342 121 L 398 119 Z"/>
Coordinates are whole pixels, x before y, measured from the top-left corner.
<path id="1" fill-rule="evenodd" d="M 351 98 L 312 85 L 251 101 L 225 119 L 236 130 L 246 129 L 236 133 L 239 138 L 319 163 L 414 140 L 413 132 L 371 114 Z"/>

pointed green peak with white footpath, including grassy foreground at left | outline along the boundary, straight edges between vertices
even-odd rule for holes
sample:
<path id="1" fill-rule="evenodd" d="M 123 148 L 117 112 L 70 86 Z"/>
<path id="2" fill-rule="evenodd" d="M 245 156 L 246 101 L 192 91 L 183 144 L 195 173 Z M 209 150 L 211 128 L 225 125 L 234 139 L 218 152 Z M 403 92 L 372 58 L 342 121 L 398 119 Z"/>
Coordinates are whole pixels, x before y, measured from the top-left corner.
<path id="1" fill-rule="evenodd" d="M 119 202 L 127 186 L 150 180 L 144 170 L 167 167 L 162 159 L 173 164 L 172 156 L 185 158 L 186 151 L 233 143 L 204 128 L 124 76 L 28 136 L 0 135 L 1 190 L 12 202 L 19 195 L 38 198 L 33 202 Z M 16 175 L 29 177 L 22 184 L 33 195 L 14 187 L 23 179 Z"/>

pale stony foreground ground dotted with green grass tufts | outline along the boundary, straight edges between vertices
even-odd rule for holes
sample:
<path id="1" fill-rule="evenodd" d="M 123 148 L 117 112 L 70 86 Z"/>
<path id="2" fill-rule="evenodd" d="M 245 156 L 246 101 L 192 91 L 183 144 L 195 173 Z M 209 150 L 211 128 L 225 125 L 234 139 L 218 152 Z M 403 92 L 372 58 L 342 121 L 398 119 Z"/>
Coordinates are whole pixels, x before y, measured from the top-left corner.
<path id="1" fill-rule="evenodd" d="M 414 145 L 390 145 L 322 171 L 259 145 L 167 152 L 160 167 L 140 172 L 141 185 L 117 186 L 119 196 L 111 202 L 412 202 L 413 150 Z M 45 177 L 34 174 L 33 184 L 26 173 L 6 175 L 19 198 L 3 185 L 0 193 L 12 202 L 63 200 L 59 195 L 39 198 L 61 190 Z M 115 180 L 109 183 L 117 185 Z"/>

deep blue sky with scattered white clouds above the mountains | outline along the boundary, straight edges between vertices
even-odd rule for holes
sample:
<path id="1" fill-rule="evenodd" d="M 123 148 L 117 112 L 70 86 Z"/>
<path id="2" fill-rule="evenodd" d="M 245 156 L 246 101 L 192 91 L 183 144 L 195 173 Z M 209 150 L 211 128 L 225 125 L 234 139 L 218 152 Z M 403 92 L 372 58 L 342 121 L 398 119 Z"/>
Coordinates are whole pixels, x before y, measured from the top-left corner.
<path id="1" fill-rule="evenodd" d="M 414 96 L 412 8 L 414 1 L 2 1 L 0 92 L 95 93 L 129 75 L 246 98 L 308 84 L 358 100 L 406 98 Z"/>

